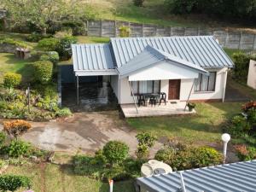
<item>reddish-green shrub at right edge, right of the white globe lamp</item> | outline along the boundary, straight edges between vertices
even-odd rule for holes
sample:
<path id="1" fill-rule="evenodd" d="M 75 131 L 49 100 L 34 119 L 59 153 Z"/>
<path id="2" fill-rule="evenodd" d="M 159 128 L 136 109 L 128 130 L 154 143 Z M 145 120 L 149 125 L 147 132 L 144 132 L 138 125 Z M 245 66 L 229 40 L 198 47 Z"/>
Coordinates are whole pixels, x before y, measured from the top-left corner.
<path id="1" fill-rule="evenodd" d="M 236 145 L 236 154 L 239 160 L 254 160 L 256 159 L 256 148 L 247 147 L 246 145 Z"/>

